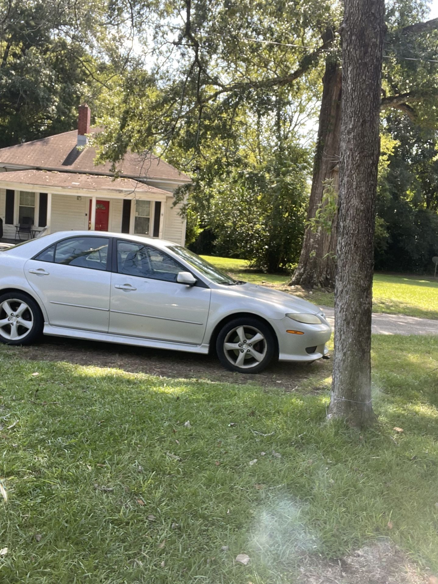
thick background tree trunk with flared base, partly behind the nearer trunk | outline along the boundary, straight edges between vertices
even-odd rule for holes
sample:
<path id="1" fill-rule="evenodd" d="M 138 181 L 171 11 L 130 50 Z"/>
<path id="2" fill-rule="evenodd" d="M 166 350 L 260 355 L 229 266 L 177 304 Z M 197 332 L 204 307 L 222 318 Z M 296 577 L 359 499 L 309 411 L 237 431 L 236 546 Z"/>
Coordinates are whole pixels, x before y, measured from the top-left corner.
<path id="1" fill-rule="evenodd" d="M 307 218 L 315 217 L 324 193 L 323 182 L 333 180 L 338 192 L 339 186 L 339 135 L 340 135 L 340 93 L 341 69 L 339 62 L 329 55 L 325 62 L 322 79 L 323 92 L 319 115 L 318 141 L 315 152 L 312 190 Z M 300 262 L 291 284 L 313 287 L 333 287 L 335 285 L 336 217 L 333 218 L 331 233 L 321 227 L 314 232 L 307 227 L 304 233 Z"/>

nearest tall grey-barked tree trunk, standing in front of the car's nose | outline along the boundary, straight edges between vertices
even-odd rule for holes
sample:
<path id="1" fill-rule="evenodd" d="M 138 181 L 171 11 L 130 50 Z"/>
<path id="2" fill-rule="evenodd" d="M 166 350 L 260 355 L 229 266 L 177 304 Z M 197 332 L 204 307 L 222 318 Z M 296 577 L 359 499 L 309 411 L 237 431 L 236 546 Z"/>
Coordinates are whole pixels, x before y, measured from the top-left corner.
<path id="1" fill-rule="evenodd" d="M 352 426 L 374 420 L 371 302 L 384 0 L 345 0 L 335 354 L 329 417 Z"/>

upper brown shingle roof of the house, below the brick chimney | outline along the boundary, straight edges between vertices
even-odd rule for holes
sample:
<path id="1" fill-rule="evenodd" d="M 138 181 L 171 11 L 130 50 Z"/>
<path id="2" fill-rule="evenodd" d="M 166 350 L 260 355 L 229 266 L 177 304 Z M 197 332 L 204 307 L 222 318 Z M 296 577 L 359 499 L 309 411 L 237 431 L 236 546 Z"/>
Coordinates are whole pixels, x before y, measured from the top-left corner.
<path id="1" fill-rule="evenodd" d="M 99 132 L 100 128 L 91 128 L 90 133 Z M 106 162 L 95 166 L 96 149 L 92 146 L 77 150 L 77 130 L 55 134 L 48 138 L 24 142 L 15 146 L 0 148 L 1 164 L 19 164 L 34 168 L 57 169 L 61 172 L 91 172 L 111 175 L 111 164 Z M 122 175 L 131 178 L 176 180 L 190 182 L 190 177 L 179 172 L 152 154 L 146 157 L 127 152 L 117 165 Z"/>

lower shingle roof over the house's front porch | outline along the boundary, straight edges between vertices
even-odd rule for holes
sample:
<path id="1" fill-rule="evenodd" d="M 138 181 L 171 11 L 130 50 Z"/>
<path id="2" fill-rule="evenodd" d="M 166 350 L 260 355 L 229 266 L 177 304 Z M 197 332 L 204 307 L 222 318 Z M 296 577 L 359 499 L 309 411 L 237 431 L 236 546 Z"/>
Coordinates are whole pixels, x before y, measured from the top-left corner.
<path id="1" fill-rule="evenodd" d="M 123 193 L 125 196 L 131 193 L 138 194 L 165 194 L 171 193 L 163 189 L 145 185 L 145 183 L 128 178 L 113 179 L 110 176 L 86 175 L 79 172 L 56 172 L 56 171 L 12 171 L 0 173 L 0 185 L 2 183 L 17 183 L 19 185 L 35 185 L 44 189 L 46 187 L 57 187 L 61 189 L 72 189 L 78 192 L 86 190 L 107 190 L 115 193 Z M 129 197 L 128 197 L 129 198 Z"/>

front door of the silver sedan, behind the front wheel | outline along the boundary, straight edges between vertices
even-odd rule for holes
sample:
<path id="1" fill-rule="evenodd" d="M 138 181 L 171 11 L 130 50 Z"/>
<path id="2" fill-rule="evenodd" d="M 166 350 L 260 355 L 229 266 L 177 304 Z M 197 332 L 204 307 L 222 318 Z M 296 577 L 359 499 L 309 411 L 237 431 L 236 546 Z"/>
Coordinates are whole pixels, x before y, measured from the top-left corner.
<path id="1" fill-rule="evenodd" d="M 177 283 L 186 268 L 157 248 L 122 239 L 115 245 L 109 331 L 200 345 L 210 288 Z"/>

